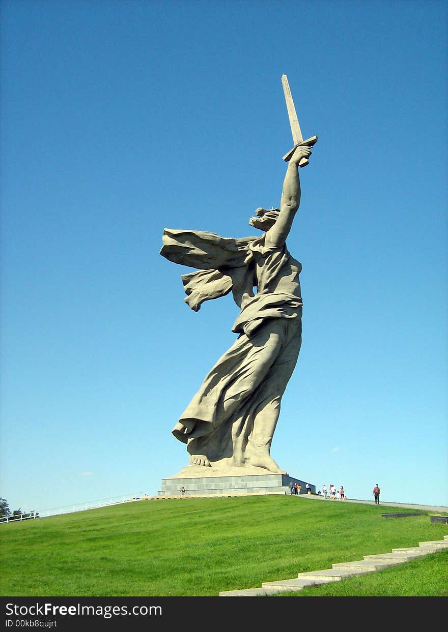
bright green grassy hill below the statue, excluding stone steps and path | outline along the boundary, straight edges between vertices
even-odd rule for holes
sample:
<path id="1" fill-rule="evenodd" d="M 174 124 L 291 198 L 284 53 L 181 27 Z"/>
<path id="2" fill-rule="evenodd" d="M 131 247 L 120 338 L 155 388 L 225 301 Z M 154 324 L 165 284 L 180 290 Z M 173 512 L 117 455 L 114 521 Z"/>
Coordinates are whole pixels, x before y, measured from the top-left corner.
<path id="1" fill-rule="evenodd" d="M 448 533 L 428 515 L 387 520 L 381 516 L 386 511 L 396 509 L 264 495 L 139 501 L 9 523 L 0 526 L 1 595 L 216 596 Z M 404 567 L 420 565 L 434 577 L 425 590 L 448 595 L 446 554 L 374 574 L 397 578 Z M 363 580 L 341 583 L 352 582 L 352 594 L 361 595 Z M 396 583 L 393 590 L 401 592 L 395 594 L 422 594 L 406 580 Z M 323 586 L 325 594 L 330 586 Z"/>

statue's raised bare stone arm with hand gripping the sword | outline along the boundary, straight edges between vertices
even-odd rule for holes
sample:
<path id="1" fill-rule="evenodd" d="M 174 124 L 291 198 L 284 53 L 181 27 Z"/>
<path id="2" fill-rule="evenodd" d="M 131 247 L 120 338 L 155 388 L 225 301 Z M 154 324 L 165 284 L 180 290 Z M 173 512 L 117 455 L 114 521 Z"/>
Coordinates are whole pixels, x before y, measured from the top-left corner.
<path id="1" fill-rule="evenodd" d="M 299 162 L 311 155 L 309 147 L 297 147 L 290 161 L 283 181 L 280 214 L 275 224 L 267 231 L 264 244 L 268 247 L 281 248 L 286 241 L 300 204 L 301 188 L 299 178 Z"/>

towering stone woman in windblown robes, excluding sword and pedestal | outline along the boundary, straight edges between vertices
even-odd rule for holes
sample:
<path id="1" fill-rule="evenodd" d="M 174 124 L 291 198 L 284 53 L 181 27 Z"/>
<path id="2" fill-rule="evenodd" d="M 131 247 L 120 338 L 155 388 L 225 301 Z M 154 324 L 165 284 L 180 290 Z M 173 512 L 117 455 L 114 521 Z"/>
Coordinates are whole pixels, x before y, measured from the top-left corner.
<path id="1" fill-rule="evenodd" d="M 191 465 L 255 466 L 286 474 L 270 456 L 280 401 L 301 347 L 301 264 L 286 238 L 300 204 L 297 147 L 283 181 L 280 209 L 257 209 L 249 223 L 263 236 L 223 238 L 203 231 L 165 229 L 161 255 L 199 272 L 184 274 L 189 307 L 230 291 L 241 311 L 235 343 L 206 375 L 173 435 L 187 444 Z M 256 292 L 254 292 L 256 288 Z"/>

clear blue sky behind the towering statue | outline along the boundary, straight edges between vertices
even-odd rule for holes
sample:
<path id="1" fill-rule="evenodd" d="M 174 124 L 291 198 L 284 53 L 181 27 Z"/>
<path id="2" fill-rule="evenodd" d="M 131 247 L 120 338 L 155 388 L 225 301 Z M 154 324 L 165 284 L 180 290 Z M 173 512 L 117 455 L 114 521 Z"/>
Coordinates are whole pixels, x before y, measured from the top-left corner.
<path id="1" fill-rule="evenodd" d="M 156 494 L 232 344 L 163 229 L 256 233 L 304 135 L 303 344 L 271 449 L 349 497 L 448 505 L 447 18 L 440 0 L 3 0 L 1 488 Z"/>

